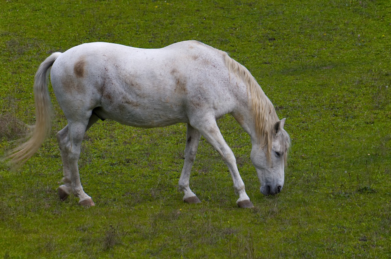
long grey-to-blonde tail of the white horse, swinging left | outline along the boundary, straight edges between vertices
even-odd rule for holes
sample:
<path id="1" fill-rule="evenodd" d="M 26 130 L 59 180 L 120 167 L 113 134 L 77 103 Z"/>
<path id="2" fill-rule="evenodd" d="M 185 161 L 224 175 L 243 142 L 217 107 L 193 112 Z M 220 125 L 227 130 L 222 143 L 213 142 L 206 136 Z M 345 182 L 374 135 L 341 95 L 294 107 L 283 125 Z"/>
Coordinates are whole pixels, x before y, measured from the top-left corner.
<path id="1" fill-rule="evenodd" d="M 33 127 L 32 135 L 28 141 L 14 148 L 7 158 L 11 159 L 13 167 L 19 167 L 26 163 L 42 145 L 43 141 L 50 133 L 52 127 L 53 108 L 48 90 L 48 75 L 50 68 L 60 52 L 55 52 L 41 63 L 34 77 L 34 101 L 36 124 Z"/>

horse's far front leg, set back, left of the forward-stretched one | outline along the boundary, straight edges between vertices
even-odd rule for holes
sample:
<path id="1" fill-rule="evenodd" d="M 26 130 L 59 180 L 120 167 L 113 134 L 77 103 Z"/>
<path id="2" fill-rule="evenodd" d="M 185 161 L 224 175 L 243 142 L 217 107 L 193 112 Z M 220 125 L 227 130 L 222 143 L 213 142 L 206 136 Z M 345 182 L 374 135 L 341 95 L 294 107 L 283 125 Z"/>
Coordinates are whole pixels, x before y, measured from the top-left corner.
<path id="1" fill-rule="evenodd" d="M 179 190 L 183 191 L 185 194 L 185 196 L 183 196 L 183 201 L 187 203 L 201 202 L 189 187 L 190 172 L 192 170 L 200 138 L 201 134 L 198 132 L 198 130 L 195 130 L 192 126 L 190 126 L 190 124 L 187 124 L 185 162 L 183 164 L 181 177 L 179 178 L 178 184 Z"/>

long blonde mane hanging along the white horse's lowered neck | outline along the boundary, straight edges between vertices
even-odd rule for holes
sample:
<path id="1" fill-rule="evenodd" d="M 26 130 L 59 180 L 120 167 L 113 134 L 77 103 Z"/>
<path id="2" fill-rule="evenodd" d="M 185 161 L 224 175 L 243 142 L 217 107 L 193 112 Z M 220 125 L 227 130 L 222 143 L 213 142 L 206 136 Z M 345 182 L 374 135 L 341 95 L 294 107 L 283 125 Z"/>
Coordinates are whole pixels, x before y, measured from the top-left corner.
<path id="1" fill-rule="evenodd" d="M 260 146 L 266 147 L 266 157 L 269 160 L 272 149 L 273 126 L 274 123 L 279 121 L 276 110 L 250 71 L 232 59 L 226 52 L 221 51 L 221 53 L 230 73 L 233 73 L 237 79 L 247 86 L 249 106 L 255 123 L 255 133 Z"/>

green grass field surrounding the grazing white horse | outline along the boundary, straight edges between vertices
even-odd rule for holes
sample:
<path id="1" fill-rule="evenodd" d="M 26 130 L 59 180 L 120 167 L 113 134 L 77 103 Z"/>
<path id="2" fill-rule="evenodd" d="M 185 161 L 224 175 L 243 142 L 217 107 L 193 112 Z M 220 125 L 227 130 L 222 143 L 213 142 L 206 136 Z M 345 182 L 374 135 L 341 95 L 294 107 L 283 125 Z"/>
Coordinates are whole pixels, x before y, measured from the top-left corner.
<path id="1" fill-rule="evenodd" d="M 0 155 L 34 124 L 32 84 L 52 52 L 108 41 L 160 48 L 196 39 L 246 66 L 287 118 L 285 186 L 263 196 L 239 124 L 218 121 L 253 209 L 201 138 L 190 187 L 177 190 L 186 125 L 96 123 L 79 161 L 96 206 L 61 202 L 52 133 L 18 171 L 0 163 L 0 258 L 390 258 L 391 3 L 17 1 L 0 3 Z"/>

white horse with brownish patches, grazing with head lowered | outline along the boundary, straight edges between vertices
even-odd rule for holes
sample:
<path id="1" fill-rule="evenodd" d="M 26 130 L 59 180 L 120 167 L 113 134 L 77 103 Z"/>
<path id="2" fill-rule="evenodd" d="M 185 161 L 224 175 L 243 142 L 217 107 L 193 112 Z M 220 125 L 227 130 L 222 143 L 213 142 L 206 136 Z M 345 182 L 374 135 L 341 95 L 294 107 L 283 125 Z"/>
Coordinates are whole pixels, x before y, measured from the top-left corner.
<path id="1" fill-rule="evenodd" d="M 95 205 L 80 183 L 79 160 L 84 132 L 97 120 L 111 119 L 134 127 L 164 127 L 187 123 L 185 162 L 179 178 L 183 200 L 199 203 L 189 188 L 192 164 L 201 134 L 228 166 L 239 207 L 253 207 L 239 175 L 235 156 L 224 141 L 216 119 L 230 113 L 251 137 L 251 161 L 264 195 L 284 184 L 290 138 L 273 104 L 251 73 L 226 52 L 198 41 L 183 41 L 160 49 L 113 43 L 86 43 L 53 53 L 34 79 L 36 126 L 32 137 L 9 155 L 25 163 L 51 129 L 50 79 L 68 125 L 57 133 L 63 161 L 61 200 L 69 193 L 85 207 Z"/>

